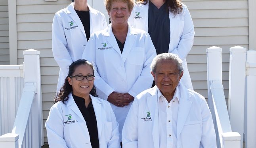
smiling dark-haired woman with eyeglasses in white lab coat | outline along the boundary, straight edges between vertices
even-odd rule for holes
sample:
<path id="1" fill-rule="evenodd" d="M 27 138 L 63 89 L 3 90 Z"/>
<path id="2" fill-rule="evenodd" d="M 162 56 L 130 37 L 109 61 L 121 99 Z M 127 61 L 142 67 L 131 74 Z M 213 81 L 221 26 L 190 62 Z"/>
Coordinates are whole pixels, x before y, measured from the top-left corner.
<path id="1" fill-rule="evenodd" d="M 50 148 L 120 148 L 115 114 L 109 102 L 97 98 L 90 62 L 69 66 L 45 126 Z"/>

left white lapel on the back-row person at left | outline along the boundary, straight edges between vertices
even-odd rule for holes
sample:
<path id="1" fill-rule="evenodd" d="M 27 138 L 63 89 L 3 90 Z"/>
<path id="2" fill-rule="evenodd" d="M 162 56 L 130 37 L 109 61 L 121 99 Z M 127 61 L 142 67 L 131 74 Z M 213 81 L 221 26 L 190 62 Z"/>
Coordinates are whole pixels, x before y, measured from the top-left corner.
<path id="1" fill-rule="evenodd" d="M 78 28 L 80 28 L 80 30 L 82 31 L 82 33 L 84 34 L 84 36 L 86 36 L 85 31 L 84 31 L 84 26 L 80 20 L 80 18 L 78 17 L 78 15 L 76 14 L 76 11 L 74 9 L 74 3 L 71 3 L 68 6 L 68 14 L 69 16 L 74 20 L 74 22 L 78 25 Z"/>

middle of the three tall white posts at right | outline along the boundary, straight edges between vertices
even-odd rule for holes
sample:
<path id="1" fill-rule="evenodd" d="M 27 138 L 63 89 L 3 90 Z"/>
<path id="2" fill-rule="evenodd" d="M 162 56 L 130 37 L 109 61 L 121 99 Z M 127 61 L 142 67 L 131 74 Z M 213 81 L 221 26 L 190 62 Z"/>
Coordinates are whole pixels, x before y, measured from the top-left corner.
<path id="1" fill-rule="evenodd" d="M 235 46 L 231 47 L 229 51 L 229 119 L 232 131 L 238 132 L 243 140 L 246 49 Z M 241 148 L 243 148 L 243 142 L 241 142 Z"/>

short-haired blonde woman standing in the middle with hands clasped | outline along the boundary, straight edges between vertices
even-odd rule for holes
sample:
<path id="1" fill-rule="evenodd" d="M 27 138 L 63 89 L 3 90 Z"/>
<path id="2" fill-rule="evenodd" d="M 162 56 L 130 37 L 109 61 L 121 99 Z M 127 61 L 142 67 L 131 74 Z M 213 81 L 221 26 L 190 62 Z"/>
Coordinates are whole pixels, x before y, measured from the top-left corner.
<path id="1" fill-rule="evenodd" d="M 92 34 L 83 58 L 94 64 L 97 94 L 111 103 L 122 133 L 134 97 L 152 86 L 156 51 L 149 34 L 127 22 L 133 0 L 105 0 L 105 5 L 111 24 Z"/>

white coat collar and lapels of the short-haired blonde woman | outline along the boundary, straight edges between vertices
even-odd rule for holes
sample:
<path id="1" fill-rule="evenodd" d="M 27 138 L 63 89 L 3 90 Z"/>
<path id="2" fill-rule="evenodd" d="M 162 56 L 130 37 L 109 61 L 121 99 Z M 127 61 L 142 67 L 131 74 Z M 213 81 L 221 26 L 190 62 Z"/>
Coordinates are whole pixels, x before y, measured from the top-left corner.
<path id="1" fill-rule="evenodd" d="M 138 34 L 137 30 L 132 25 L 130 25 L 130 23 L 128 23 L 128 32 L 124 44 L 124 50 L 121 53 L 112 31 L 112 23 L 109 24 L 109 26 L 105 29 L 105 32 L 103 33 L 104 36 L 109 36 L 107 37 L 107 41 L 109 42 L 109 44 L 111 44 L 115 51 L 117 51 L 117 53 L 122 57 L 123 63 L 126 61 L 126 58 L 128 57 L 130 51 L 132 50 L 132 47 L 136 40 L 136 34 Z"/>

